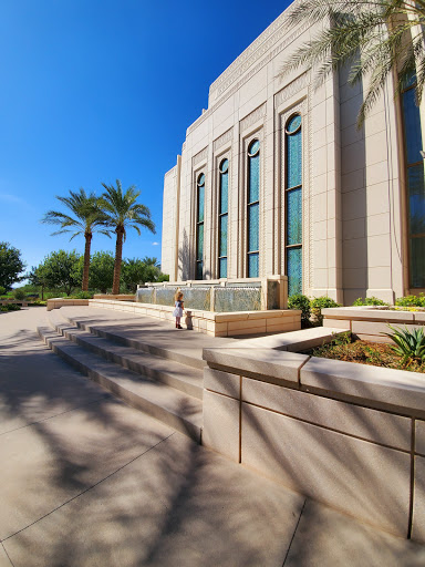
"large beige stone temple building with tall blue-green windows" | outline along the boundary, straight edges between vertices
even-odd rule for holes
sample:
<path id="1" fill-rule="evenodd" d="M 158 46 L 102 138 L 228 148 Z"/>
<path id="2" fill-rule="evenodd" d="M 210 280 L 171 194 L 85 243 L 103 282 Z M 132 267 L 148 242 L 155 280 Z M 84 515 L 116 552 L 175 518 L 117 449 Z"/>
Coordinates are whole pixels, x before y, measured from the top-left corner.
<path id="1" fill-rule="evenodd" d="M 289 295 L 425 291 L 425 189 L 414 85 L 388 81 L 362 130 L 363 85 L 279 76 L 310 39 L 284 12 L 210 85 L 165 175 L 162 269 L 170 281 L 288 277 Z"/>

